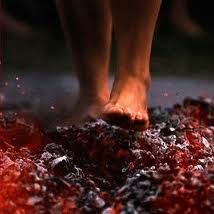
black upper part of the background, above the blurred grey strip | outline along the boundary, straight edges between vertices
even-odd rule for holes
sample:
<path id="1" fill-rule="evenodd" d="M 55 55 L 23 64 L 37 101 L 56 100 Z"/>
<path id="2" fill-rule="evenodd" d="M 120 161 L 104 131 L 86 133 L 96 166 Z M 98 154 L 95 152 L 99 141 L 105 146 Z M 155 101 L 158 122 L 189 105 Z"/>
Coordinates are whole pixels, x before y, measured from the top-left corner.
<path id="1" fill-rule="evenodd" d="M 214 11 L 211 2 L 189 1 L 190 15 L 209 33 L 206 38 L 195 39 L 174 30 L 169 18 L 171 1 L 163 1 L 152 51 L 153 73 L 185 75 L 187 72 L 194 76 L 213 76 Z M 16 36 L 7 32 L 3 34 L 5 69 L 11 66 L 17 69 L 32 67 L 57 72 L 70 69 L 69 51 L 65 48 L 52 0 L 4 0 L 2 5 L 9 15 L 29 24 L 34 31 L 34 36 L 31 37 Z"/>

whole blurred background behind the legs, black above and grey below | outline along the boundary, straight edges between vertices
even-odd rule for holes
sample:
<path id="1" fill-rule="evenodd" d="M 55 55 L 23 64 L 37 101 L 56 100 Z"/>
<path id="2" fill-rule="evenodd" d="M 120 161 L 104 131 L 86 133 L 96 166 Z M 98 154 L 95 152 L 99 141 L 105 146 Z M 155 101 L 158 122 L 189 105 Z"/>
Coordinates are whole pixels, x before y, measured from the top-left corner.
<path id="1" fill-rule="evenodd" d="M 174 29 L 170 5 L 170 0 L 163 1 L 154 36 L 150 105 L 169 106 L 186 96 L 213 97 L 212 1 L 192 0 L 188 4 L 190 16 L 207 32 L 201 38 Z M 2 8 L 33 31 L 31 35 L 1 34 L 4 102 L 30 103 L 37 111 L 71 108 L 78 96 L 78 83 L 53 1 L 4 0 Z M 115 69 L 114 49 L 113 44 L 111 72 Z"/>

